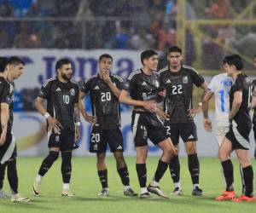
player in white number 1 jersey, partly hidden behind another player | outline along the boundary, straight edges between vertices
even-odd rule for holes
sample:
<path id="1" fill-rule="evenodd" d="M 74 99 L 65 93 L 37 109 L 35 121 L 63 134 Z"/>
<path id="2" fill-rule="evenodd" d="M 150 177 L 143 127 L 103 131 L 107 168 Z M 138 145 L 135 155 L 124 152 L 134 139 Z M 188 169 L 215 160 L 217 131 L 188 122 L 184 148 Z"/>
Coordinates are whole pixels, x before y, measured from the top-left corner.
<path id="1" fill-rule="evenodd" d="M 230 88 L 233 79 L 227 76 L 227 73 L 221 73 L 214 76 L 208 84 L 207 94 L 203 99 L 203 116 L 204 128 L 207 132 L 212 132 L 212 121 L 208 118 L 208 106 L 212 96 L 215 96 L 215 138 L 218 142 L 218 148 L 221 146 L 226 133 L 230 130 L 229 113 L 230 113 Z M 244 181 L 241 172 L 242 193 L 244 193 Z M 221 174 L 224 179 L 223 170 Z"/>

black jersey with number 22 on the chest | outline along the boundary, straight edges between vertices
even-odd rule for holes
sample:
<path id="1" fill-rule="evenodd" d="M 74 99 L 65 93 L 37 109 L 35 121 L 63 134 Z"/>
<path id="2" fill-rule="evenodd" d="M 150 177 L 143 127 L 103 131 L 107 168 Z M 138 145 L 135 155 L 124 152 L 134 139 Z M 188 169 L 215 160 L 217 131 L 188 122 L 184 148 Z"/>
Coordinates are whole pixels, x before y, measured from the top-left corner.
<path id="1" fill-rule="evenodd" d="M 185 65 L 178 72 L 172 72 L 166 66 L 159 73 L 160 83 L 166 88 L 164 109 L 171 117 L 169 122 L 193 122 L 188 112 L 192 108 L 193 84 L 201 87 L 205 79 L 193 67 Z"/>

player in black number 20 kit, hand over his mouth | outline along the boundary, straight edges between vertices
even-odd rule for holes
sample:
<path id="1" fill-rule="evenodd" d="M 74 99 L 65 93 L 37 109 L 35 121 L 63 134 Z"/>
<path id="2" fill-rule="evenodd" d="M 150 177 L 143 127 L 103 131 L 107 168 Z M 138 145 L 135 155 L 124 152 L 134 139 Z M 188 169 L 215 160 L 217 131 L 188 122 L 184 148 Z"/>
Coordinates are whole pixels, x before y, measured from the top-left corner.
<path id="1" fill-rule="evenodd" d="M 99 72 L 84 81 L 80 92 L 80 109 L 84 119 L 92 125 L 90 153 L 96 153 L 97 171 L 102 183 L 98 196 L 108 196 L 108 169 L 105 163 L 107 147 L 116 160 L 117 171 L 124 185 L 125 196 L 137 196 L 130 187 L 130 178 L 123 155 L 123 135 L 120 128 L 119 94 L 123 79 L 111 73 L 113 58 L 104 54 L 98 60 Z M 85 112 L 83 99 L 90 93 L 92 116 Z"/>

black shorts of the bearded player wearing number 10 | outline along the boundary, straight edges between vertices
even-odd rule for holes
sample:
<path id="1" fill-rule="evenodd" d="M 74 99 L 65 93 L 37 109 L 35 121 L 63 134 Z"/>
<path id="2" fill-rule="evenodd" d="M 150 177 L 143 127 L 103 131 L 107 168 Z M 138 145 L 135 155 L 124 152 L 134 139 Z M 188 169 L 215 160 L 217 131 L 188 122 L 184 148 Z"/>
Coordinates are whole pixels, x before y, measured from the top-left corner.
<path id="1" fill-rule="evenodd" d="M 48 135 L 48 147 L 59 147 L 61 152 L 71 151 L 75 142 L 75 131 L 60 130 L 58 133 L 52 131 Z"/>

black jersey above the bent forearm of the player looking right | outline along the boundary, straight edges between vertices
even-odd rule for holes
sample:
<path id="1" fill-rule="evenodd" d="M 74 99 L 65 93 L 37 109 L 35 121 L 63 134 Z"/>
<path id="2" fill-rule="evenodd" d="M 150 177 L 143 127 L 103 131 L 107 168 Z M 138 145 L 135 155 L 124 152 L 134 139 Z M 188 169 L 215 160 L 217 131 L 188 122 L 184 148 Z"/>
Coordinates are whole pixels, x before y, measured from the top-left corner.
<path id="1" fill-rule="evenodd" d="M 147 75 L 143 69 L 131 72 L 125 83 L 125 90 L 130 93 L 133 100 L 156 101 L 160 92 L 160 75 L 157 72 Z"/>

